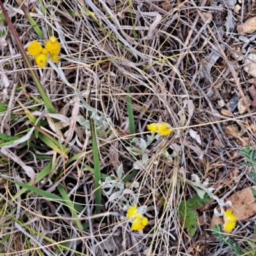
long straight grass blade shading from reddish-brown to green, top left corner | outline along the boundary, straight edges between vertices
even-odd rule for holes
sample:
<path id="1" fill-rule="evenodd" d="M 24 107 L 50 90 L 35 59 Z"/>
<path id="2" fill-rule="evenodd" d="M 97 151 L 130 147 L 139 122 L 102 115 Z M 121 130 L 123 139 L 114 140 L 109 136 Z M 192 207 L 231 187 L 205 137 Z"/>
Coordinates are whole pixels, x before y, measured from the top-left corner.
<path id="1" fill-rule="evenodd" d="M 49 100 L 47 94 L 45 93 L 44 87 L 40 83 L 40 80 L 39 80 L 36 72 L 33 70 L 33 68 L 32 68 L 33 66 L 32 66 L 32 64 L 31 64 L 31 62 L 30 62 L 30 60 L 28 58 L 28 54 L 25 51 L 24 46 L 23 46 L 22 42 L 20 41 L 19 35 L 18 35 L 16 29 L 14 28 L 14 26 L 12 24 L 12 20 L 10 19 L 6 9 L 4 8 L 4 4 L 1 1 L 0 1 L 0 7 L 1 7 L 3 15 L 4 15 L 5 19 L 6 19 L 6 22 L 8 23 L 8 26 L 9 26 L 9 28 L 12 31 L 13 38 L 15 40 L 15 43 L 17 44 L 17 47 L 18 47 L 18 49 L 20 51 L 20 54 L 22 55 L 24 63 L 26 65 L 26 67 L 28 68 L 29 73 L 31 74 L 31 77 L 32 77 L 34 83 L 36 84 L 38 92 L 40 93 L 42 99 L 44 100 L 45 107 L 47 108 L 49 113 L 55 114 L 56 111 L 54 109 L 54 106 L 52 105 L 51 100 Z"/>

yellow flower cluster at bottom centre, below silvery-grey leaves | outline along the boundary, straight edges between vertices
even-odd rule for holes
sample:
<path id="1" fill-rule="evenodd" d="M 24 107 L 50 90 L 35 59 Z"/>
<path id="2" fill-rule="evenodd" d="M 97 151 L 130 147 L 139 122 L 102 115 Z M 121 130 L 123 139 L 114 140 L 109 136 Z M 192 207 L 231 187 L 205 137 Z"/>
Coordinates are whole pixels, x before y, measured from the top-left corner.
<path id="1" fill-rule="evenodd" d="M 132 230 L 139 231 L 144 229 L 148 225 L 147 217 L 143 217 L 142 214 L 138 211 L 136 204 L 131 206 L 127 211 L 127 217 L 132 221 Z"/>

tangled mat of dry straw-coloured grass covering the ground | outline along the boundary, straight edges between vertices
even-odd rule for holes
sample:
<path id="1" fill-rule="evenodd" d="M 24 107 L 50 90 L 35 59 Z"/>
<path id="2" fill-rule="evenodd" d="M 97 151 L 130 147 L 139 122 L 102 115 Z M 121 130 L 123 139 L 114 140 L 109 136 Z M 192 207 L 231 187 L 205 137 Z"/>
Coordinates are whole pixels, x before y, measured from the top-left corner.
<path id="1" fill-rule="evenodd" d="M 29 57 L 58 114 L 50 115 L 2 14 L 0 254 L 230 255 L 207 221 L 216 200 L 193 209 L 200 223 L 193 236 L 179 205 L 196 195 L 193 174 L 208 178 L 207 188 L 223 200 L 252 186 L 237 152 L 255 146 L 254 81 L 242 68 L 255 35 L 241 37 L 237 25 L 253 17 L 253 3 L 5 1 L 25 49 L 58 38 L 57 65 L 73 87 Z M 248 108 L 239 113 L 244 97 Z M 33 118 L 40 121 L 35 130 Z M 147 143 L 152 122 L 173 132 Z M 134 203 L 147 205 L 143 232 L 131 231 L 125 218 L 125 205 Z M 238 237 L 230 236 L 248 255 L 254 221 L 238 221 Z"/>

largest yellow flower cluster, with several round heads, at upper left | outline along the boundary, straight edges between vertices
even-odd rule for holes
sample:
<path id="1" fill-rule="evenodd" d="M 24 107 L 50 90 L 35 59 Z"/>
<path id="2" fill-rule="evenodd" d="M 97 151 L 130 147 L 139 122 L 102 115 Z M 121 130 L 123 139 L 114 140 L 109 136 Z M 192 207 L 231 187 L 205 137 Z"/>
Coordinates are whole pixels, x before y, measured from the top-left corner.
<path id="1" fill-rule="evenodd" d="M 45 42 L 45 48 L 43 48 L 38 41 L 33 41 L 28 46 L 29 54 L 36 57 L 36 64 L 41 68 L 44 68 L 47 58 L 50 58 L 51 61 L 58 62 L 60 49 L 60 43 L 55 36 L 51 36 L 50 39 Z"/>

